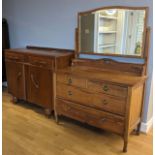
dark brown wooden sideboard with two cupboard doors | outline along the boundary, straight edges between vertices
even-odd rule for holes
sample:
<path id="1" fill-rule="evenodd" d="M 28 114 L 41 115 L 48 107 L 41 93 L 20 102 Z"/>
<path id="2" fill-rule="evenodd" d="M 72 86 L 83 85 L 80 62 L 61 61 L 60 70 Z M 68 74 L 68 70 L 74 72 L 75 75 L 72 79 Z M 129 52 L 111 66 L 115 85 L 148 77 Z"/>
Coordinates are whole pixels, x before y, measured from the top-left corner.
<path id="1" fill-rule="evenodd" d="M 27 46 L 6 50 L 8 92 L 13 95 L 13 101 L 35 103 L 50 115 L 55 71 L 69 66 L 73 57 L 73 52 L 65 49 Z"/>

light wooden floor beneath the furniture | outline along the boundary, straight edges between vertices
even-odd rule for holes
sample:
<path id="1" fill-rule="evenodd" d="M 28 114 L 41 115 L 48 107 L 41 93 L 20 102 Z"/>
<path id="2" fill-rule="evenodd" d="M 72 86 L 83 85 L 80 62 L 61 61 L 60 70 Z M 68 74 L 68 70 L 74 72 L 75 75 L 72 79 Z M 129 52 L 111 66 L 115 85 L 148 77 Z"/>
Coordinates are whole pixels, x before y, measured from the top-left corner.
<path id="1" fill-rule="evenodd" d="M 131 135 L 125 155 L 152 155 L 152 131 L 140 136 Z M 42 109 L 11 102 L 3 92 L 3 155 L 122 155 L 122 139 L 61 118 L 46 118 Z"/>

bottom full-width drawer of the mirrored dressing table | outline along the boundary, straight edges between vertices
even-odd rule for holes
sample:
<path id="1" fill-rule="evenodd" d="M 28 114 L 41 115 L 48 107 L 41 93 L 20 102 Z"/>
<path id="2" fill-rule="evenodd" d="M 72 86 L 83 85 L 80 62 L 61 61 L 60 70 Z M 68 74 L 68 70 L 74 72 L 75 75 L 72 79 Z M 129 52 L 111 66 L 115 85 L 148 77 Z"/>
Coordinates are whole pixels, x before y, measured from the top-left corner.
<path id="1" fill-rule="evenodd" d="M 60 99 L 56 99 L 56 109 L 59 115 L 64 115 L 118 134 L 123 134 L 124 132 L 124 117 Z"/>

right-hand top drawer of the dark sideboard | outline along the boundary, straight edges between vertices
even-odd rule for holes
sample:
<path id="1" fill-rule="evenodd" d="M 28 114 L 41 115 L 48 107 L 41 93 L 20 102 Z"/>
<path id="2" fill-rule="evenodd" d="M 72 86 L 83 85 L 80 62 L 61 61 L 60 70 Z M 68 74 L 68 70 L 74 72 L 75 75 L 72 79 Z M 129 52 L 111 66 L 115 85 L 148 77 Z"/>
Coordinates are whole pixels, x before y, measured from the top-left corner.
<path id="1" fill-rule="evenodd" d="M 38 67 L 54 68 L 54 60 L 48 57 L 29 56 L 29 63 Z"/>

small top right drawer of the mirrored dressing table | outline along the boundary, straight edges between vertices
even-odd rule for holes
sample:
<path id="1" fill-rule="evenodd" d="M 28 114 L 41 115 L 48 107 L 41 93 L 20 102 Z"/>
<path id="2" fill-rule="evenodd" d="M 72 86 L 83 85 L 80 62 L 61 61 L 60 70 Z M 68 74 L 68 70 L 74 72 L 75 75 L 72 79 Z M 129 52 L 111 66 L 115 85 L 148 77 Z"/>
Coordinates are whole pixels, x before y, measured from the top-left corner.
<path id="1" fill-rule="evenodd" d="M 127 88 L 106 83 L 106 82 L 97 82 L 97 81 L 88 81 L 87 83 L 88 90 L 91 92 L 100 92 L 109 95 L 127 97 Z"/>

